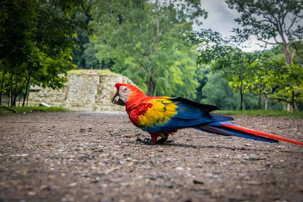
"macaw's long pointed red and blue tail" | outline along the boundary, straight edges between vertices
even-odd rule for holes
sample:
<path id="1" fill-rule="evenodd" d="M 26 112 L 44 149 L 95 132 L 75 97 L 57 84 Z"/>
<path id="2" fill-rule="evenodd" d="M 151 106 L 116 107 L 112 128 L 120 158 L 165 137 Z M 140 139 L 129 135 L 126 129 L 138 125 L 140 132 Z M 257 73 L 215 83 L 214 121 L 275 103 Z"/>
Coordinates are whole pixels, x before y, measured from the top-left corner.
<path id="1" fill-rule="evenodd" d="M 303 142 L 300 141 L 280 137 L 277 135 L 271 135 L 257 130 L 244 128 L 229 122 L 213 122 L 207 125 L 197 126 L 195 127 L 195 129 L 209 133 L 215 133 L 217 135 L 237 136 L 237 137 L 244 137 L 248 139 L 266 141 L 266 142 L 275 142 L 275 143 L 279 142 L 280 140 L 280 141 L 290 142 L 293 144 L 303 145 Z"/>

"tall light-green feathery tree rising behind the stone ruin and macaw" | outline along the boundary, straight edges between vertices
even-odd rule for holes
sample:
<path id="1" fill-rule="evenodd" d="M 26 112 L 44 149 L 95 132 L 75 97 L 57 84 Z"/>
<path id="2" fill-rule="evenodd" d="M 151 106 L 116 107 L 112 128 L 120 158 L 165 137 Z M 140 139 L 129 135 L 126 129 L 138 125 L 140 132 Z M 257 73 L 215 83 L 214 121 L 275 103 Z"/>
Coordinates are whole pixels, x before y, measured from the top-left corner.
<path id="1" fill-rule="evenodd" d="M 200 9 L 200 1 L 94 1 L 91 23 L 96 30 L 99 61 L 114 61 L 114 70 L 127 76 L 140 76 L 147 95 L 159 91 L 158 80 L 170 77 L 184 35 L 192 23 L 200 24 L 207 13 Z M 133 71 L 125 70 L 130 68 Z M 142 84 L 142 83 L 138 83 Z M 157 88 L 156 88 L 157 86 Z M 167 88 L 167 91 L 170 89 Z"/>

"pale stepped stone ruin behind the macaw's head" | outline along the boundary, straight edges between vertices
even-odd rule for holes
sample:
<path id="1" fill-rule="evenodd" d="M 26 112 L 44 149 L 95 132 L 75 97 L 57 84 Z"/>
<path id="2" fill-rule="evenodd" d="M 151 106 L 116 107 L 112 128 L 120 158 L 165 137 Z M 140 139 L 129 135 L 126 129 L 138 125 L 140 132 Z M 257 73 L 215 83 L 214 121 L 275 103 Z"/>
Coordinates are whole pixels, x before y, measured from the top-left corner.
<path id="1" fill-rule="evenodd" d="M 86 70 L 68 73 L 67 78 L 65 87 L 59 91 L 42 88 L 39 92 L 30 92 L 28 106 L 45 103 L 74 111 L 125 111 L 124 107 L 112 104 L 110 91 L 118 82 L 133 84 L 127 77 Z"/>

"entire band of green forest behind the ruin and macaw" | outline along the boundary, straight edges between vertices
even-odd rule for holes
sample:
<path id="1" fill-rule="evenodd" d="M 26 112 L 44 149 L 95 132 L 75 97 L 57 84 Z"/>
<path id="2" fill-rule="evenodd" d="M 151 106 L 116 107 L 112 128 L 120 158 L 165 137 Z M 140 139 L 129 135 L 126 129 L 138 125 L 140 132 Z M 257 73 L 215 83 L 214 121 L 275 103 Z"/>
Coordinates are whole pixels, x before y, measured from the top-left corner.
<path id="1" fill-rule="evenodd" d="M 24 97 L 24 106 L 33 84 L 59 89 L 66 78 L 58 74 L 73 69 L 109 69 L 147 95 L 303 110 L 303 2 L 227 0 L 238 13 L 227 37 L 204 29 L 212 13 L 203 2 L 2 1 L 0 105 L 7 96 L 9 106 Z M 243 51 L 251 37 L 261 51 Z"/>

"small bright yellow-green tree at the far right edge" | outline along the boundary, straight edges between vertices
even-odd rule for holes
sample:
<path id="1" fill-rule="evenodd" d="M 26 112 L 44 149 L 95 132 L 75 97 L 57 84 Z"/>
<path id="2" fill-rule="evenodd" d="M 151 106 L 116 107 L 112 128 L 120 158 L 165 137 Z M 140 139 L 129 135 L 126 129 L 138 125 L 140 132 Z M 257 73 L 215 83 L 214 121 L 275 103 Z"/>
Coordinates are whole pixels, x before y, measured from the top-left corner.
<path id="1" fill-rule="evenodd" d="M 291 49 L 295 50 L 293 65 L 285 64 L 282 45 L 274 46 L 271 50 L 266 51 L 264 55 L 267 56 L 263 58 L 262 62 L 266 71 L 263 76 L 265 89 L 262 93 L 270 99 L 286 103 L 289 111 L 297 108 L 296 103 L 301 101 L 300 67 L 302 62 L 301 51 L 298 48 L 300 44 L 301 42 L 293 44 L 296 45 L 297 49 L 291 46 Z M 299 75 L 295 75 L 295 73 Z"/>

